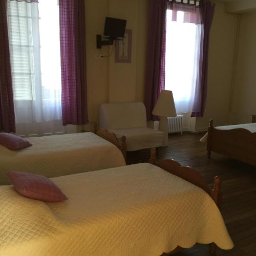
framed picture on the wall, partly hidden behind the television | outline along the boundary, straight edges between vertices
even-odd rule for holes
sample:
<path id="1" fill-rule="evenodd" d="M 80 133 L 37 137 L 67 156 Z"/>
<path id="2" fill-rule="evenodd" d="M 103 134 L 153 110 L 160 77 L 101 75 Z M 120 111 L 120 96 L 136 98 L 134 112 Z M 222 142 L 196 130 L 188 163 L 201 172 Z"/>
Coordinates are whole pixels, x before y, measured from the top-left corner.
<path id="1" fill-rule="evenodd" d="M 122 41 L 116 41 L 115 62 L 132 62 L 132 30 L 126 29 Z"/>

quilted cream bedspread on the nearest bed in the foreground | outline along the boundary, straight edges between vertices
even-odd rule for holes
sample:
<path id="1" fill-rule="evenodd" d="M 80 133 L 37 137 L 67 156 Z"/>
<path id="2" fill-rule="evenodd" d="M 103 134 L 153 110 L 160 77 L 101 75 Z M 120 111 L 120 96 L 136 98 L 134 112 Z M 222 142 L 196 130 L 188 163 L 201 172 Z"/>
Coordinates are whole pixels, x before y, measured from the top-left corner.
<path id="1" fill-rule="evenodd" d="M 213 241 L 233 247 L 210 196 L 154 165 L 52 180 L 69 200 L 44 203 L 0 187 L 0 255 L 157 256 Z"/>

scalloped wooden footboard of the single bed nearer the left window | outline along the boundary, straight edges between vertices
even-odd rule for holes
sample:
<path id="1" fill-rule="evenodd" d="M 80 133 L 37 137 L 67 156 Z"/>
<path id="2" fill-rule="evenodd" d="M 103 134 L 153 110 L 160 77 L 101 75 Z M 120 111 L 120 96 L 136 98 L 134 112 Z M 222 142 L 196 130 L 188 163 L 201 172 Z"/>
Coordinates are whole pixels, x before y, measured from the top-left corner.
<path id="1" fill-rule="evenodd" d="M 116 145 L 119 150 L 122 152 L 124 160 L 126 162 L 126 143 L 125 143 L 125 136 L 122 136 L 120 140 L 116 137 L 114 133 L 108 132 L 105 129 L 99 129 L 97 128 L 97 123 L 93 123 L 93 132 L 100 136 L 101 138 L 108 140 L 109 142 Z"/>

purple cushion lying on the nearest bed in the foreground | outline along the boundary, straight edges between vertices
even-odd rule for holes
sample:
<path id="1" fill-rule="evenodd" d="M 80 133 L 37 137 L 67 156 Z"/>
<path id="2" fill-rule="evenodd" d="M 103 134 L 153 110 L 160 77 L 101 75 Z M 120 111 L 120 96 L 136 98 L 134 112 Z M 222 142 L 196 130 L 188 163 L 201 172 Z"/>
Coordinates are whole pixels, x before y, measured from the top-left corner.
<path id="1" fill-rule="evenodd" d="M 18 193 L 25 197 L 44 202 L 61 202 L 68 199 L 59 187 L 45 176 L 22 172 L 9 172 L 8 175 Z"/>

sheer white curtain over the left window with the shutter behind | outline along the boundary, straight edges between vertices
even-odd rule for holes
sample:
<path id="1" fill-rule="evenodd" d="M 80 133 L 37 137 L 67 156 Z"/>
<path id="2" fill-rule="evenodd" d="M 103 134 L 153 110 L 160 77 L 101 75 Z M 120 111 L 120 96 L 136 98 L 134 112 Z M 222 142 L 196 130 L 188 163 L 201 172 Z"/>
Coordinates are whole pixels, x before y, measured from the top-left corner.
<path id="1" fill-rule="evenodd" d="M 8 27 L 16 123 L 26 124 L 27 130 L 31 126 L 35 135 L 44 135 L 41 130 L 52 121 L 58 123 L 59 130 L 62 125 L 57 1 L 8 1 Z M 55 132 L 53 128 L 52 133 Z M 20 133 L 26 135 L 25 131 Z"/>

